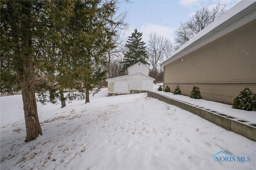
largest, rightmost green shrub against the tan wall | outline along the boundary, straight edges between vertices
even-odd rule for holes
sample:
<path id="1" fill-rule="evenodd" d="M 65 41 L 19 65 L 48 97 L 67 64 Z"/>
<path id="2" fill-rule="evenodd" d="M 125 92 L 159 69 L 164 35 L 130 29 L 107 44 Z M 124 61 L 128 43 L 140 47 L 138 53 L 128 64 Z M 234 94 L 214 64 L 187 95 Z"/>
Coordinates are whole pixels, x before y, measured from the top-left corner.
<path id="1" fill-rule="evenodd" d="M 245 88 L 240 94 L 234 99 L 232 108 L 256 111 L 256 96 L 249 88 Z"/>

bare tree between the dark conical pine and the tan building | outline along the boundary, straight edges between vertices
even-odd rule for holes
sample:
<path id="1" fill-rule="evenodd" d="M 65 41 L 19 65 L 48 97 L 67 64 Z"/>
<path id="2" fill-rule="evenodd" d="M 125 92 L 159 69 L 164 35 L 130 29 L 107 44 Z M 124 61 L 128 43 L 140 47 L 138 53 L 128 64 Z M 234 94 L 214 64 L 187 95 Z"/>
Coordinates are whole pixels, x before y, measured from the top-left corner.
<path id="1" fill-rule="evenodd" d="M 173 52 L 173 44 L 167 37 L 156 35 L 156 32 L 149 34 L 149 40 L 147 45 L 148 63 L 150 63 L 152 70 L 150 70 L 151 76 L 159 80 L 157 77 L 158 72 L 161 72 L 160 64 L 164 59 L 168 58 Z"/>

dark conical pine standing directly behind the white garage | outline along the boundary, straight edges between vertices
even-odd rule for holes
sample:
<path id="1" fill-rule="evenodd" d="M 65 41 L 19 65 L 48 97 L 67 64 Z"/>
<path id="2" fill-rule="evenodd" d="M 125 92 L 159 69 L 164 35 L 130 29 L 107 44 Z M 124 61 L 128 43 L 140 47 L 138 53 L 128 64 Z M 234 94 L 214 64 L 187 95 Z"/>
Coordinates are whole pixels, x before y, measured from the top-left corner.
<path id="1" fill-rule="evenodd" d="M 146 43 L 142 41 L 142 33 L 138 32 L 137 29 L 134 29 L 132 36 L 128 37 L 125 47 L 128 49 L 124 53 L 124 64 L 123 70 L 126 70 L 129 66 L 141 62 L 143 64 L 147 63 L 147 53 L 146 53 Z"/>

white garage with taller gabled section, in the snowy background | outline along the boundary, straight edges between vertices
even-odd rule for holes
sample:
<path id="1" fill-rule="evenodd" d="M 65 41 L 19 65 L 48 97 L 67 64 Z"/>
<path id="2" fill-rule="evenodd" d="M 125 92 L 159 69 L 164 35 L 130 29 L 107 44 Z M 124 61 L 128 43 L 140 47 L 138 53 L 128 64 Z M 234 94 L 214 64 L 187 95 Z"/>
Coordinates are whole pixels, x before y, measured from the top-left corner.
<path id="1" fill-rule="evenodd" d="M 140 93 L 153 90 L 154 78 L 148 76 L 149 67 L 136 63 L 128 67 L 128 75 L 108 78 L 108 95 Z"/>

